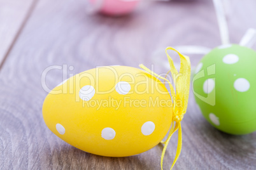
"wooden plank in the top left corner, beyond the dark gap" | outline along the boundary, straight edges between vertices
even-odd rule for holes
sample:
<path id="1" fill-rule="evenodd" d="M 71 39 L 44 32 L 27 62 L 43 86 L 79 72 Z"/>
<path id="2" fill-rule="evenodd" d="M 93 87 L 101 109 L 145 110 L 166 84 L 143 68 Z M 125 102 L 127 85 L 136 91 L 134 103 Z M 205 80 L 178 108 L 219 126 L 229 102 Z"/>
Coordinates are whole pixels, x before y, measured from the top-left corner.
<path id="1" fill-rule="evenodd" d="M 33 0 L 0 0 L 0 68 L 31 12 Z"/>

